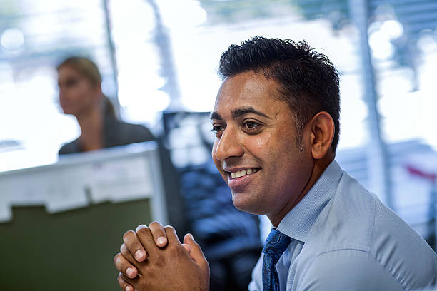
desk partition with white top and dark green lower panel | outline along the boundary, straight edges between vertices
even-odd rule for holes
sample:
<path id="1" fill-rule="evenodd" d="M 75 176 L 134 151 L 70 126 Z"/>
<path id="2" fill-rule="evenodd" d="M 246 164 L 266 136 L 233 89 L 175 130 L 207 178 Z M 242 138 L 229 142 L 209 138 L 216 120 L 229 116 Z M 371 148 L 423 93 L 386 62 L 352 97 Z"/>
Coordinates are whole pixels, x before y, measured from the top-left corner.
<path id="1" fill-rule="evenodd" d="M 154 142 L 0 173 L 0 290 L 119 290 L 126 230 L 168 222 Z"/>

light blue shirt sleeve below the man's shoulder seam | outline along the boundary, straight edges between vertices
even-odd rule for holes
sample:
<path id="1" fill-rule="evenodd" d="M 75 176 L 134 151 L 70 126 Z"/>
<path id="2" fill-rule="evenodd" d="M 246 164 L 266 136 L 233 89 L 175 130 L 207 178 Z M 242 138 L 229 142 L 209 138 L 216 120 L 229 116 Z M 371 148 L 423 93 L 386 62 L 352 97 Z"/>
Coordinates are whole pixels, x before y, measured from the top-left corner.
<path id="1" fill-rule="evenodd" d="M 386 267 L 368 252 L 337 250 L 316 257 L 298 291 L 403 291 Z"/>

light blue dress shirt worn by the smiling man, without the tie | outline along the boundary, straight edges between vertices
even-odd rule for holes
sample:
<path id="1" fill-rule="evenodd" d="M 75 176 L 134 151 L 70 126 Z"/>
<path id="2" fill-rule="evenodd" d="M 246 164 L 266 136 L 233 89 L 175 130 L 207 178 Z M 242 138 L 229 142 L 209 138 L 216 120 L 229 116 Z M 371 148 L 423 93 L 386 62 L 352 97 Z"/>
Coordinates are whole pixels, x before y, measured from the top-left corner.
<path id="1" fill-rule="evenodd" d="M 437 282 L 437 255 L 334 160 L 279 223 L 291 238 L 276 270 L 281 291 L 416 290 Z M 250 291 L 263 290 L 263 255 Z"/>

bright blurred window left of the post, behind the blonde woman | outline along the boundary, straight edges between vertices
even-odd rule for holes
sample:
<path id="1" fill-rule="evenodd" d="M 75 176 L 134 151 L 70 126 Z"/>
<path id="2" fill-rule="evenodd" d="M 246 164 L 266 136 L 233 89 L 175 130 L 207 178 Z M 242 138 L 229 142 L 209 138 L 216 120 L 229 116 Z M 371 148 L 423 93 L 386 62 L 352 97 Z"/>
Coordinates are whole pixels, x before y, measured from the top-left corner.
<path id="1" fill-rule="evenodd" d="M 88 56 L 116 96 L 102 1 L 0 0 L 0 171 L 53 163 L 79 136 L 58 102 L 56 65 Z"/>

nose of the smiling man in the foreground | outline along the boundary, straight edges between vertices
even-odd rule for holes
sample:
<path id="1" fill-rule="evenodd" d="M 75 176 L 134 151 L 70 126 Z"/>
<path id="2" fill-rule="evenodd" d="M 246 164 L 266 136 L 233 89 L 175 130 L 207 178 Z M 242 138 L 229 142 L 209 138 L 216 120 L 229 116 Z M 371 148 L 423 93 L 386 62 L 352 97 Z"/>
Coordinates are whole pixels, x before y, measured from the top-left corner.
<path id="1" fill-rule="evenodd" d="M 243 147 L 238 141 L 236 129 L 227 127 L 216 146 L 215 155 L 218 160 L 226 160 L 231 157 L 241 157 L 243 155 Z"/>

